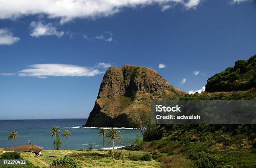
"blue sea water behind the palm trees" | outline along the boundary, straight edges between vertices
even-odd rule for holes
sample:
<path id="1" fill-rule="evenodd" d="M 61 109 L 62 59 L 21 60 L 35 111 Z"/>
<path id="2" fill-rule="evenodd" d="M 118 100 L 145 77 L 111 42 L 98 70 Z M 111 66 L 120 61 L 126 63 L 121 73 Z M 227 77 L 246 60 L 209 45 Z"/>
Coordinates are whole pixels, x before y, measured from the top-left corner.
<path id="1" fill-rule="evenodd" d="M 14 146 L 28 144 L 28 140 L 33 140 L 36 145 L 44 149 L 54 149 L 52 145 L 54 137 L 51 137 L 51 127 L 57 126 L 61 133 L 69 130 L 72 136 L 67 141 L 68 149 L 88 148 L 89 143 L 94 143 L 95 148 L 102 148 L 102 137 L 99 137 L 98 128 L 79 128 L 84 125 L 85 119 L 52 119 L 52 120 L 0 120 L 0 148 L 11 146 L 11 140 L 8 140 L 8 133 L 15 131 L 19 133 L 19 139 Z M 121 143 L 115 143 L 115 146 L 131 145 L 137 135 L 141 135 L 140 130 L 118 128 L 123 137 Z M 64 148 L 64 139 L 61 149 Z M 105 139 L 104 147 L 111 147 Z"/>

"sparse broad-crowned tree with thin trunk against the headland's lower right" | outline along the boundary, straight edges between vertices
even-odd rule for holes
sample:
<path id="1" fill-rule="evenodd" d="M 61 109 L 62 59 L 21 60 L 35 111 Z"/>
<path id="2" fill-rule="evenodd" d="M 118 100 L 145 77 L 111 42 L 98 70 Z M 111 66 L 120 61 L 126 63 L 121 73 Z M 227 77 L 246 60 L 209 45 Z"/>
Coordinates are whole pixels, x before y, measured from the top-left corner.
<path id="1" fill-rule="evenodd" d="M 149 112 L 144 109 L 133 110 L 130 113 L 129 122 L 133 127 L 139 128 L 144 139 L 145 130 L 151 123 L 151 116 Z"/>

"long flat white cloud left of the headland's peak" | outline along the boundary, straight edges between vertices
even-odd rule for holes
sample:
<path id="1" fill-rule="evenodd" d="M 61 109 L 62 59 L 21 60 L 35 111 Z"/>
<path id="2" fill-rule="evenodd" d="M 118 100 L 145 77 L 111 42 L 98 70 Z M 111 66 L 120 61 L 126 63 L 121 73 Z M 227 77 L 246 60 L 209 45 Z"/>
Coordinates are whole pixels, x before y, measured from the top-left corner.
<path id="1" fill-rule="evenodd" d="M 105 63 L 100 63 L 106 65 Z M 96 69 L 96 67 L 84 67 L 69 64 L 33 64 L 29 69 L 18 72 L 18 76 L 34 76 L 45 79 L 47 76 L 95 76 L 102 74 L 104 71 Z M 102 67 L 102 68 L 105 68 Z"/>

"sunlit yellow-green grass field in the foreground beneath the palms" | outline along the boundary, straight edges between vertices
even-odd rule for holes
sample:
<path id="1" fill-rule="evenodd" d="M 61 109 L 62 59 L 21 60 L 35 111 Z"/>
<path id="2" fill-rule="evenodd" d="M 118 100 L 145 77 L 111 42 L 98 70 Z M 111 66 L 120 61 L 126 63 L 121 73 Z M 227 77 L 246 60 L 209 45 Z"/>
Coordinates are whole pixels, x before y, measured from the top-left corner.
<path id="1" fill-rule="evenodd" d="M 118 151 L 118 150 L 115 150 Z M 0 149 L 1 153 L 1 149 Z M 52 161 L 56 158 L 63 158 L 65 155 L 69 155 L 72 158 L 76 159 L 79 164 L 82 165 L 84 168 L 160 168 L 161 163 L 157 162 L 156 160 L 151 161 L 133 161 L 128 160 L 127 157 L 125 157 L 124 160 L 116 160 L 112 159 L 111 155 L 108 154 L 108 152 L 104 151 L 77 151 L 77 150 L 67 150 L 66 152 L 64 150 L 56 150 L 54 153 L 54 150 L 43 150 L 44 155 L 40 157 L 35 157 L 33 153 L 27 153 L 23 152 L 21 153 L 22 156 L 33 163 L 36 166 L 39 166 L 40 168 L 49 167 L 49 165 L 52 163 Z M 123 150 L 123 153 L 128 156 L 130 155 L 143 155 L 146 152 L 144 151 L 127 151 Z M 55 157 L 49 157 L 49 156 L 56 156 Z"/>

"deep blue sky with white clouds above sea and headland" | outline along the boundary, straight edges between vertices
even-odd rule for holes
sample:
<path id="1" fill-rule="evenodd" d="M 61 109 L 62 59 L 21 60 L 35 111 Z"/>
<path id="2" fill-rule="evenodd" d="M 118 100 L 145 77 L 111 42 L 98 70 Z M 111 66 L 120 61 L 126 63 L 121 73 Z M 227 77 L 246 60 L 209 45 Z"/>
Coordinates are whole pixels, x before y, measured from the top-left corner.
<path id="1" fill-rule="evenodd" d="M 11 0 L 0 11 L 3 120 L 87 118 L 109 66 L 148 66 L 189 92 L 256 54 L 255 0 Z"/>

